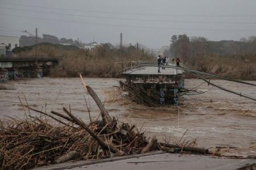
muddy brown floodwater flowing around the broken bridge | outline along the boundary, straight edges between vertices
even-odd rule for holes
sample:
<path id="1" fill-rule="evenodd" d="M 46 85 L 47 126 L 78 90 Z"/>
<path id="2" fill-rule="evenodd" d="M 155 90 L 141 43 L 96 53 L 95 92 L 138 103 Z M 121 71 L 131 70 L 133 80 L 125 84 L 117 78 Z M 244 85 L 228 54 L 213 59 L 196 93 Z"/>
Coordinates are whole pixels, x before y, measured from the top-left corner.
<path id="1" fill-rule="evenodd" d="M 254 86 L 211 80 L 213 83 L 256 97 Z M 143 126 L 149 136 L 170 138 L 174 141 L 184 132 L 188 139 L 198 138 L 201 147 L 232 146 L 249 147 L 256 142 L 256 102 L 228 92 L 212 88 L 205 94 L 183 96 L 181 105 L 177 107 L 148 108 L 123 99 L 115 87 L 117 79 L 86 78 L 86 82 L 97 92 L 112 116 Z M 193 88 L 202 80 L 187 79 L 185 86 Z M 256 82 L 251 82 L 255 83 Z M 5 84 L 13 90 L 0 90 L 0 118 L 24 117 L 24 110 L 18 96 L 25 103 L 36 109 L 50 112 L 52 109 L 61 112 L 63 107 L 71 105 L 72 112 L 89 121 L 84 95 L 88 99 L 79 78 L 42 78 L 23 79 Z M 197 90 L 207 91 L 206 83 Z M 23 94 L 22 94 L 23 92 Z M 90 111 L 97 118 L 99 109 L 90 98 Z M 179 115 L 178 115 L 179 109 Z M 27 111 L 26 111 L 27 112 Z M 35 114 L 35 113 L 32 113 Z M 178 121 L 179 118 L 179 121 Z"/>

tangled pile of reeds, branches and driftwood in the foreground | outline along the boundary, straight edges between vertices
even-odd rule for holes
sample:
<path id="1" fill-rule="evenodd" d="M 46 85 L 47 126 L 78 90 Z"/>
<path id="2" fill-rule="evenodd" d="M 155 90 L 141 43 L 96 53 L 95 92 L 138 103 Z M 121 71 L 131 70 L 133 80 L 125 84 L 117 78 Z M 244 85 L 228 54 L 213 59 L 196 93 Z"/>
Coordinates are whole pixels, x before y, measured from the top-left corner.
<path id="1" fill-rule="evenodd" d="M 111 118 L 96 93 L 82 77 L 81 80 L 100 108 L 102 120 L 90 120 L 85 124 L 72 114 L 70 107 L 63 108 L 63 113 L 52 111 L 48 114 L 23 105 L 30 111 L 24 120 L 0 121 L 0 169 L 30 169 L 70 160 L 103 159 L 152 150 L 208 152 L 159 143 L 156 138 L 149 142 L 134 125 Z M 32 116 L 32 112 L 40 116 Z"/>

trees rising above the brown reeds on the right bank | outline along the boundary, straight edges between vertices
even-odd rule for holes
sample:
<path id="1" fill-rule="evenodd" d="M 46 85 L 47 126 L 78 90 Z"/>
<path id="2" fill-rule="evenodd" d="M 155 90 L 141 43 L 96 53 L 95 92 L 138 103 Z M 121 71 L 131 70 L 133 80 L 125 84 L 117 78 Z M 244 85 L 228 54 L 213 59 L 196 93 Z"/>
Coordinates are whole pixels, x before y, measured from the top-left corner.
<path id="1" fill-rule="evenodd" d="M 179 56 L 183 62 L 191 62 L 198 57 L 237 56 L 256 54 L 256 36 L 250 36 L 240 41 L 210 41 L 205 37 L 173 35 L 170 39 L 170 49 L 164 55 Z"/>

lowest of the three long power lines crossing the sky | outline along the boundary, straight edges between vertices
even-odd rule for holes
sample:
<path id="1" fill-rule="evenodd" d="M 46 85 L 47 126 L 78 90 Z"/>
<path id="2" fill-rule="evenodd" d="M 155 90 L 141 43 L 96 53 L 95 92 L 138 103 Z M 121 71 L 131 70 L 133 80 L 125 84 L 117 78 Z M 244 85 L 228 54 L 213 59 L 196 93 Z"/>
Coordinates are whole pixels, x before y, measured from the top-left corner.
<path id="1" fill-rule="evenodd" d="M 14 14 L 5 14 L 9 16 L 14 16 L 18 18 L 28 18 L 28 19 L 43 19 L 43 20 L 52 20 L 52 21 L 63 21 L 68 23 L 76 23 L 76 24 L 93 24 L 93 25 L 105 25 L 109 27 L 126 27 L 126 28 L 155 28 L 155 29 L 170 29 L 170 30 L 183 30 L 183 31 L 222 31 L 222 32 L 255 32 L 256 29 L 203 29 L 203 28 L 171 28 L 171 27 L 151 27 L 144 25 L 122 25 L 122 24 L 106 24 L 106 23 L 94 23 L 94 22 L 76 22 L 74 20 L 62 20 L 62 19 L 52 19 L 52 18 L 39 18 L 32 16 L 22 16 L 22 15 L 14 15 Z"/>

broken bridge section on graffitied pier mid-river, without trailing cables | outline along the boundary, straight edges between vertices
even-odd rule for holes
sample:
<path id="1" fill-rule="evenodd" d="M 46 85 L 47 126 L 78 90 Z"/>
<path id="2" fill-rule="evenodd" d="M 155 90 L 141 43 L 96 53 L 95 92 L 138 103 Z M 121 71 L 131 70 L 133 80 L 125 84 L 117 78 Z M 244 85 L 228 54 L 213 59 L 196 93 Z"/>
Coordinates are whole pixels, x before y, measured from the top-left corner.
<path id="1" fill-rule="evenodd" d="M 179 92 L 185 85 L 185 71 L 179 67 L 163 68 L 158 73 L 155 66 L 131 67 L 123 71 L 126 82 L 120 82 L 121 86 L 138 104 L 178 105 Z"/>

